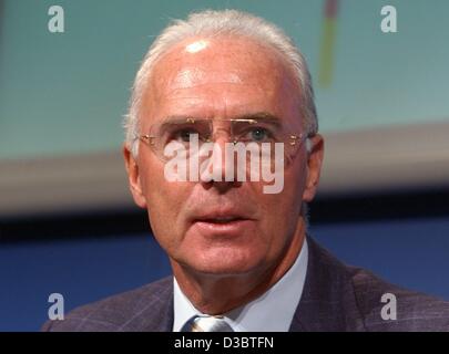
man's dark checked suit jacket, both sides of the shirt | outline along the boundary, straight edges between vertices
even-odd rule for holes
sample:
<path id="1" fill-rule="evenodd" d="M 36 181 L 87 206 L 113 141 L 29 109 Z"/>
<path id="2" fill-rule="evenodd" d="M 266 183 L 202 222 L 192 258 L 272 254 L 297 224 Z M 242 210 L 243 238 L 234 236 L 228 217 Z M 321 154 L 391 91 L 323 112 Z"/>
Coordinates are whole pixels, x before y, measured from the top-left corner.
<path id="1" fill-rule="evenodd" d="M 449 303 L 389 284 L 338 261 L 312 238 L 303 295 L 290 331 L 449 331 Z M 397 320 L 382 320 L 382 294 Z M 173 278 L 84 305 L 43 331 L 172 331 Z"/>

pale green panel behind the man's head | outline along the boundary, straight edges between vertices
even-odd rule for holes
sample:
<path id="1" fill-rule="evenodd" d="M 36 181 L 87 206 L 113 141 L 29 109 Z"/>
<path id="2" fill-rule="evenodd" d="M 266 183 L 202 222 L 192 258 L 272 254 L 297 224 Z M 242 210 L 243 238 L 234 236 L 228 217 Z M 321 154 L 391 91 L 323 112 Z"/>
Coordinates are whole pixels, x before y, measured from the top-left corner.
<path id="1" fill-rule="evenodd" d="M 449 118 L 449 1 L 341 0 L 333 77 L 317 82 L 324 132 Z M 62 6 L 65 32 L 48 31 Z M 380 31 L 394 4 L 398 32 Z M 314 79 L 324 1 L 7 0 L 0 18 L 0 159 L 116 149 L 139 63 L 173 18 L 238 8 L 279 24 L 300 45 Z"/>

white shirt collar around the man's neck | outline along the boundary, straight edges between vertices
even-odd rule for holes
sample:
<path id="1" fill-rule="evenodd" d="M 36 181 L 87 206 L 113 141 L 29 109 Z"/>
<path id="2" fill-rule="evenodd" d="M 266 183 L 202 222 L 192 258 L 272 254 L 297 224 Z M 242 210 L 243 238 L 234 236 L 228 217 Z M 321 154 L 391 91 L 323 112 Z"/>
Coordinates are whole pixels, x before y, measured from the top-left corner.
<path id="1" fill-rule="evenodd" d="M 308 247 L 304 239 L 295 263 L 280 280 L 252 302 L 224 314 L 235 332 L 286 332 L 303 294 L 307 273 Z M 194 315 L 203 315 L 174 282 L 173 331 L 178 332 Z"/>

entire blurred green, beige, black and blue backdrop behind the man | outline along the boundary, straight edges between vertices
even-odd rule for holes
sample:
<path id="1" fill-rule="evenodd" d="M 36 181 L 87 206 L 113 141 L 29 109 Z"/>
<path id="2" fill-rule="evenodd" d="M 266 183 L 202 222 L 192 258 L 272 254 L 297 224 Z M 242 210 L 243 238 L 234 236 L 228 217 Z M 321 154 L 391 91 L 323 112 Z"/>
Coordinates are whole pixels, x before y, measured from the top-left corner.
<path id="1" fill-rule="evenodd" d="M 449 300 L 448 1 L 0 0 L 0 331 L 38 331 L 50 293 L 68 311 L 170 274 L 127 191 L 122 116 L 154 37 L 207 8 L 275 22 L 308 61 L 326 139 L 310 233 Z"/>

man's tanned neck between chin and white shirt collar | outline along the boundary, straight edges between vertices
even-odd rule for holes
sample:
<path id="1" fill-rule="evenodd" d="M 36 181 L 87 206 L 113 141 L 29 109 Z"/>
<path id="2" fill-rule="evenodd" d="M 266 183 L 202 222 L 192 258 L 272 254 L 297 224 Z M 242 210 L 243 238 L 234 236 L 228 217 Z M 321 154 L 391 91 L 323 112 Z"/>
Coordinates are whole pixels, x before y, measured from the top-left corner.
<path id="1" fill-rule="evenodd" d="M 296 261 L 304 239 L 305 222 L 299 218 L 289 244 L 274 266 L 245 274 L 216 275 L 195 272 L 171 260 L 173 273 L 183 293 L 198 311 L 223 314 L 253 301 L 279 281 Z"/>

